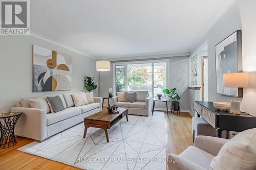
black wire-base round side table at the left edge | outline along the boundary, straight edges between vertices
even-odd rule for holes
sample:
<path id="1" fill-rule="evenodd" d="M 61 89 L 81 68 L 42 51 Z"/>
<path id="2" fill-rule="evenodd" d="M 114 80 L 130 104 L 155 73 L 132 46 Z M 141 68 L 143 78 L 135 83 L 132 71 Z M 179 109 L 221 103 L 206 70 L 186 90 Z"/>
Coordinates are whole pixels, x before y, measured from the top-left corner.
<path id="1" fill-rule="evenodd" d="M 0 113 L 0 149 L 12 147 L 17 143 L 14 128 L 22 112 Z"/>

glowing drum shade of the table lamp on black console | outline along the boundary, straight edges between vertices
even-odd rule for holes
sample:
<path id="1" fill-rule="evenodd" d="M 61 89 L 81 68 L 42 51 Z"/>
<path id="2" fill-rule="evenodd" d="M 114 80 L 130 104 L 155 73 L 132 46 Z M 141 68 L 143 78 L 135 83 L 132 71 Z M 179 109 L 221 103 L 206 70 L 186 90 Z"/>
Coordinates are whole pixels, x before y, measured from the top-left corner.
<path id="1" fill-rule="evenodd" d="M 223 74 L 224 87 L 248 87 L 248 72 Z"/>

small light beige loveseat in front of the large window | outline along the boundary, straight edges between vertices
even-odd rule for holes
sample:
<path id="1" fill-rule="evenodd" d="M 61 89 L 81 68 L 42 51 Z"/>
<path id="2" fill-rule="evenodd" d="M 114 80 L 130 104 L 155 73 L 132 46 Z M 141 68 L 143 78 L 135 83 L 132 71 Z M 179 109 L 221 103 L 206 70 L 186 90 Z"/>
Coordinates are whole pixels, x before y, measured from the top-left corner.
<path id="1" fill-rule="evenodd" d="M 134 91 L 136 92 L 135 102 L 120 102 L 118 96 L 112 98 L 111 103 L 118 107 L 126 107 L 128 114 L 148 116 L 151 113 L 152 98 L 148 96 L 148 91 Z"/>

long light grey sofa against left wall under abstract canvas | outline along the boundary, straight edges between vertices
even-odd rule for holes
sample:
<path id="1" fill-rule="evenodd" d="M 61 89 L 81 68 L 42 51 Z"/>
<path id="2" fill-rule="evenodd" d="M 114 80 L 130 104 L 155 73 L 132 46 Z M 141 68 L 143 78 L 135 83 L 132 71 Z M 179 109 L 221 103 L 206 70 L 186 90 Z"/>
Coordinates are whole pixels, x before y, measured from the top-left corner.
<path id="1" fill-rule="evenodd" d="M 16 124 L 15 135 L 41 142 L 83 122 L 85 117 L 101 111 L 102 98 L 94 97 L 95 103 L 74 107 L 71 94 L 60 94 L 63 95 L 67 108 L 57 113 L 47 113 L 46 110 L 29 108 L 29 103 L 23 104 L 27 107 L 22 107 L 22 104 L 17 102 L 17 106 L 11 110 L 23 112 L 23 114 Z"/>

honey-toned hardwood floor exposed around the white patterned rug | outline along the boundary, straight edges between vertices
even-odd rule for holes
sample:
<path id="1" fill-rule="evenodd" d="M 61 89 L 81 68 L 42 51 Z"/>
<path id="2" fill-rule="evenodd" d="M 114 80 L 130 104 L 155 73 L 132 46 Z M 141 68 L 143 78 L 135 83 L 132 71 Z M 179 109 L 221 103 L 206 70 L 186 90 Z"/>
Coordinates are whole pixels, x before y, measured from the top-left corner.
<path id="1" fill-rule="evenodd" d="M 165 112 L 166 113 L 166 112 Z M 154 112 L 157 114 L 157 112 Z M 191 116 L 189 113 L 170 114 L 166 121 L 166 154 L 180 154 L 193 144 L 191 132 Z M 16 150 L 32 142 L 32 139 L 17 137 L 17 144 L 11 148 L 0 150 L 0 169 L 79 169 L 70 165 L 55 162 L 46 158 L 27 154 Z"/>

